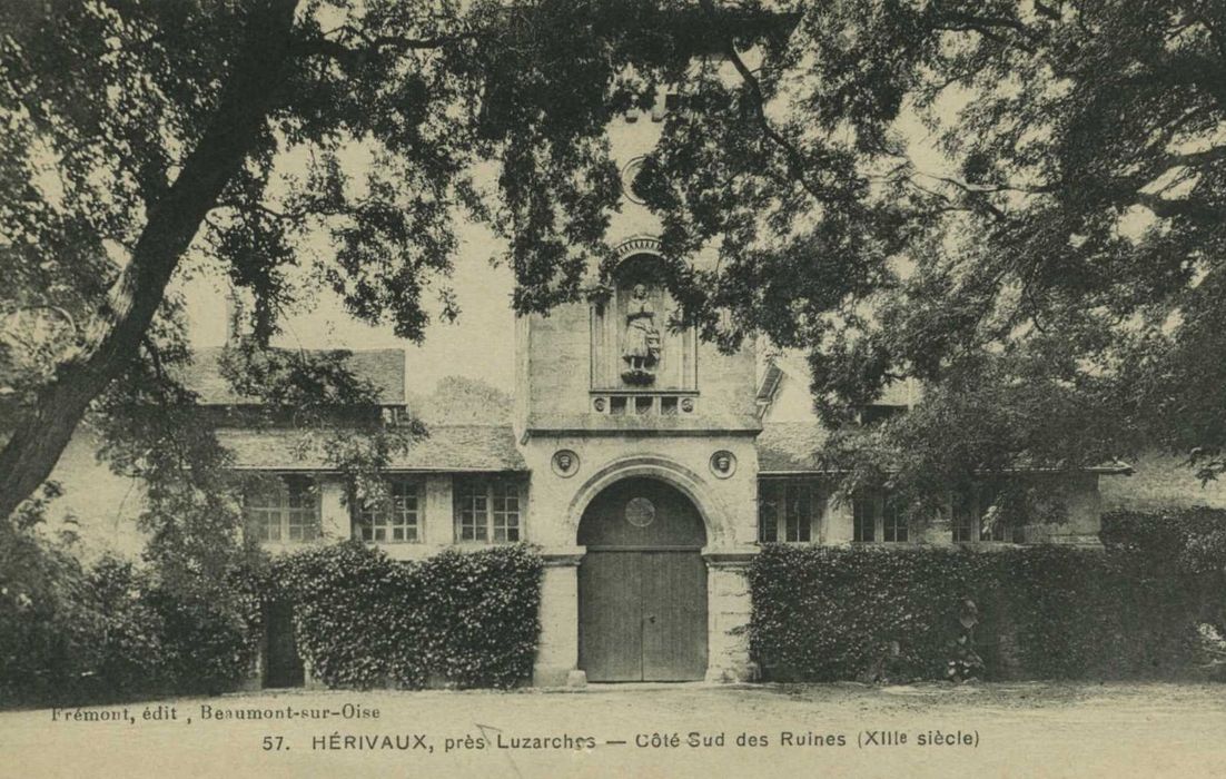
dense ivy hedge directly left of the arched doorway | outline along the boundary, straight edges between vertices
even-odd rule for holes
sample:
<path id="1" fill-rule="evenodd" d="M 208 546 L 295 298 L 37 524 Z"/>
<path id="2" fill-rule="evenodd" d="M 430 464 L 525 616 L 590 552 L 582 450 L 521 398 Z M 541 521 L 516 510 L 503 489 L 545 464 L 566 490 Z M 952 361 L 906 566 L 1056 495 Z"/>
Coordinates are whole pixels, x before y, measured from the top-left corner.
<path id="1" fill-rule="evenodd" d="M 330 687 L 510 687 L 532 671 L 542 569 L 522 546 L 405 563 L 351 541 L 282 558 L 273 577 Z"/>

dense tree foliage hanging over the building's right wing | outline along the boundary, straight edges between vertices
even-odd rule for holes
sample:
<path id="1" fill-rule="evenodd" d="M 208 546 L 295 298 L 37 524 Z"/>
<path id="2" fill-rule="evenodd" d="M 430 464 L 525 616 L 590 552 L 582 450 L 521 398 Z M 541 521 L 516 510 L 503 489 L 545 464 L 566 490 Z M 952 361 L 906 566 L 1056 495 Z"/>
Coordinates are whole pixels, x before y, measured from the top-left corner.
<path id="1" fill-rule="evenodd" d="M 807 350 L 834 427 L 922 382 L 830 439 L 848 483 L 1154 445 L 1224 470 L 1221 5 L 785 6 L 783 42 L 726 31 L 640 174 L 667 250 L 718 255 L 684 299 L 706 334 Z"/>

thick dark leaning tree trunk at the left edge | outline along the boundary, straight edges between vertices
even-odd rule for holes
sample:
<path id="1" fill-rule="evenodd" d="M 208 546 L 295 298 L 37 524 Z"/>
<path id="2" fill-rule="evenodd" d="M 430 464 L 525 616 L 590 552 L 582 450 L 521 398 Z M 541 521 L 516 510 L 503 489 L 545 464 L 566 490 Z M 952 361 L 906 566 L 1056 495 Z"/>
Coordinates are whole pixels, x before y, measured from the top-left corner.
<path id="1" fill-rule="evenodd" d="M 199 145 L 148 221 L 115 285 L 92 348 L 60 367 L 0 451 L 0 516 L 50 476 L 86 410 L 136 357 L 183 253 L 243 164 L 280 92 L 297 0 L 265 0 L 248 17 L 246 40 Z"/>

